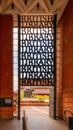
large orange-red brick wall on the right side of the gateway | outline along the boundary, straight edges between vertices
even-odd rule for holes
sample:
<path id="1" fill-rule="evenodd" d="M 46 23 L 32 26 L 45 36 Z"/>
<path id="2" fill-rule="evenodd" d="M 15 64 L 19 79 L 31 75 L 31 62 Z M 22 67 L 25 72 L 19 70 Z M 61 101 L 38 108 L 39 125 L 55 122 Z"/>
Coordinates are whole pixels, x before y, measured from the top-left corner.
<path id="1" fill-rule="evenodd" d="M 61 18 L 62 43 L 62 98 L 61 116 L 65 110 L 73 112 L 73 0 L 70 0 Z"/>

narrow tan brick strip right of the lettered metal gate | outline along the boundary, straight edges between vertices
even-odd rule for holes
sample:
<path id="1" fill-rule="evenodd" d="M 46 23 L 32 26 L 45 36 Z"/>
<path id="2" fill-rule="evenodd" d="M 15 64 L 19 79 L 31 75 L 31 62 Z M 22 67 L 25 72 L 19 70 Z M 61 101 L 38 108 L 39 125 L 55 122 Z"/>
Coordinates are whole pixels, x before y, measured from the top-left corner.
<path id="1" fill-rule="evenodd" d="M 56 28 L 56 117 L 60 114 L 60 27 Z"/>

